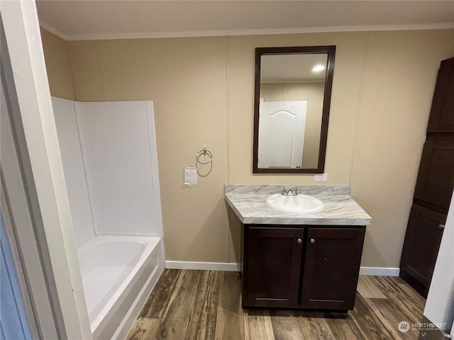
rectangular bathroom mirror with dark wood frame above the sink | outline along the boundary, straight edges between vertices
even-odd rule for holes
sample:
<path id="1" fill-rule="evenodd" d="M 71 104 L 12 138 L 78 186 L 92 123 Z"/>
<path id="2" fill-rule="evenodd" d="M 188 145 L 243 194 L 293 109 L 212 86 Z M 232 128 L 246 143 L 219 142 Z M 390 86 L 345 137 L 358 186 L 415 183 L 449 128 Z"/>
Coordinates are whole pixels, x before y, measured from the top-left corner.
<path id="1" fill-rule="evenodd" d="M 323 173 L 335 53 L 255 49 L 254 174 Z"/>

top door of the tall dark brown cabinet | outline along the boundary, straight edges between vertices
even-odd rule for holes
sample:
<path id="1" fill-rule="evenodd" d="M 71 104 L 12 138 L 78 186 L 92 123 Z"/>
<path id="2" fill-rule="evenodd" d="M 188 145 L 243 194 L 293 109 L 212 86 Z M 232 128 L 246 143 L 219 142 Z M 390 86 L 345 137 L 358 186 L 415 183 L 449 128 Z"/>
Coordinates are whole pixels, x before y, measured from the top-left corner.
<path id="1" fill-rule="evenodd" d="M 443 60 L 438 71 L 427 133 L 454 132 L 454 58 Z"/>

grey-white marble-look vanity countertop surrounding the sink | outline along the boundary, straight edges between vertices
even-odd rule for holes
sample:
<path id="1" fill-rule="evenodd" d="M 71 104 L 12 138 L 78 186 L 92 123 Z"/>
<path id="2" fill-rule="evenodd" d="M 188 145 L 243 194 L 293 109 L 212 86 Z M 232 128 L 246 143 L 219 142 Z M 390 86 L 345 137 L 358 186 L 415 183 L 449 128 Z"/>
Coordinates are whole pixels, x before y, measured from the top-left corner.
<path id="1" fill-rule="evenodd" d="M 286 186 L 291 188 L 292 186 Z M 319 198 L 323 210 L 311 214 L 270 208 L 268 196 L 279 186 L 226 184 L 224 198 L 244 224 L 262 225 L 370 225 L 372 217 L 350 196 L 350 186 L 302 186 L 298 193 Z"/>

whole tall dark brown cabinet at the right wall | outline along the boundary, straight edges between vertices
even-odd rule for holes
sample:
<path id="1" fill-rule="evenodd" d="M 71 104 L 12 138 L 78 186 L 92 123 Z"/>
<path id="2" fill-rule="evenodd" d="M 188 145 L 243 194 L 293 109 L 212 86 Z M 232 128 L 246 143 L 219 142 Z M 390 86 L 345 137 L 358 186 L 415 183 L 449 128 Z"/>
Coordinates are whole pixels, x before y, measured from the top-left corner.
<path id="1" fill-rule="evenodd" d="M 441 62 L 406 227 L 400 277 L 427 296 L 454 188 L 454 57 Z"/>

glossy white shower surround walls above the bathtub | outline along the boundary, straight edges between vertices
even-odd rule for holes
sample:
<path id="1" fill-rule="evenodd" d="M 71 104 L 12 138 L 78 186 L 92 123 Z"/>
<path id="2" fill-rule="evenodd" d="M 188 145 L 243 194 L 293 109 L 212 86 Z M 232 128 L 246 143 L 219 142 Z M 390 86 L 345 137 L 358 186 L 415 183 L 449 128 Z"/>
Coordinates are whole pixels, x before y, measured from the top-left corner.
<path id="1" fill-rule="evenodd" d="M 162 236 L 153 102 L 52 103 L 77 246 Z"/>

